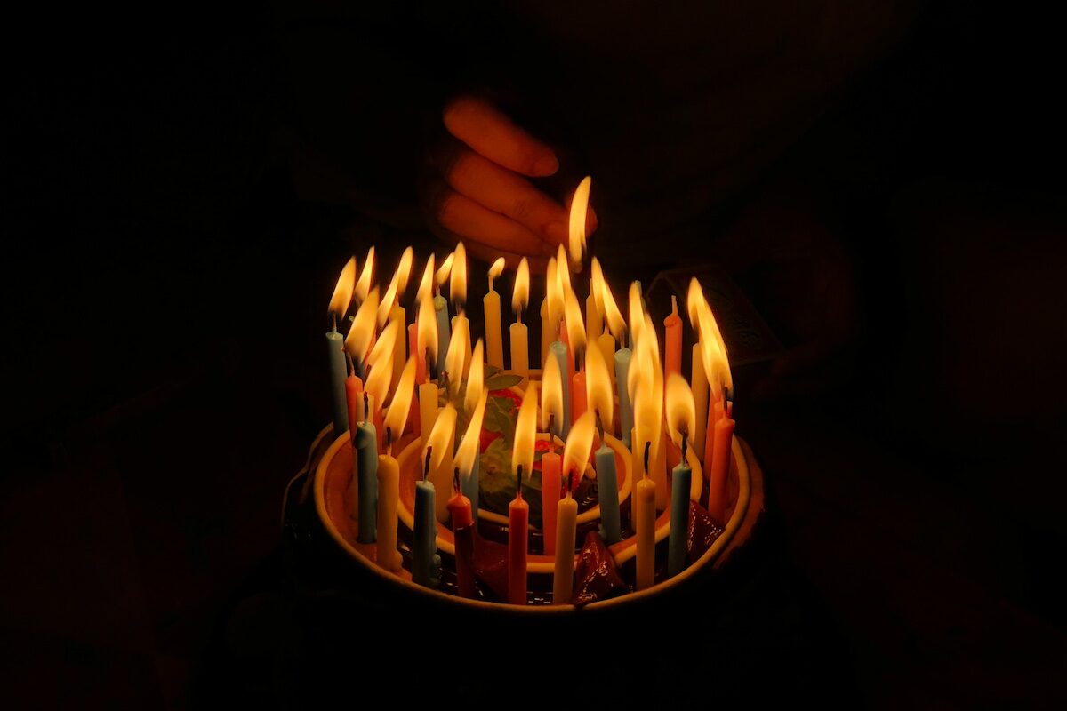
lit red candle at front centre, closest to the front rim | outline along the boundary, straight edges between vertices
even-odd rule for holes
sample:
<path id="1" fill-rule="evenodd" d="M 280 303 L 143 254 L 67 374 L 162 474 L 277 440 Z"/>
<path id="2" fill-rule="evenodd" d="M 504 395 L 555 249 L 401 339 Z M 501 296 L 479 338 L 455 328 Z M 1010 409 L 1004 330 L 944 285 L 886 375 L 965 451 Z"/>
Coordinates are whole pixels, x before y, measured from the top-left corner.
<path id="1" fill-rule="evenodd" d="M 537 439 L 537 385 L 530 383 L 523 393 L 515 421 L 515 440 L 511 467 L 515 473 L 515 498 L 508 505 L 508 601 L 526 604 L 526 546 L 529 504 L 523 500 L 523 472 L 534 468 L 534 443 Z"/>

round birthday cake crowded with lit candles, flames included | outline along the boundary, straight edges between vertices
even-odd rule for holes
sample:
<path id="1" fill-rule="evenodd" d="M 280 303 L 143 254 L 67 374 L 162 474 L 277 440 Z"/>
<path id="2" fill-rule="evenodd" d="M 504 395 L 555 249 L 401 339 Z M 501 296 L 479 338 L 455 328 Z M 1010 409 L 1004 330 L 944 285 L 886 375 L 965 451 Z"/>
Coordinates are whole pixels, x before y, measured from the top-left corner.
<path id="1" fill-rule="evenodd" d="M 572 210 L 587 199 L 588 179 Z M 359 278 L 354 258 L 343 271 L 315 512 L 332 545 L 385 584 L 515 612 L 617 605 L 716 569 L 751 534 L 762 483 L 733 436 L 726 344 L 699 282 L 686 295 L 686 377 L 676 302 L 657 328 L 634 282 L 624 319 L 596 259 L 584 263 L 584 219 L 571 224 L 570 251 L 545 275 L 540 369 L 522 321 L 525 260 L 507 368 L 493 288 L 503 259 L 473 344 L 462 243 L 440 265 L 428 259 L 411 323 L 410 248 L 384 292 L 372 249 Z"/>

